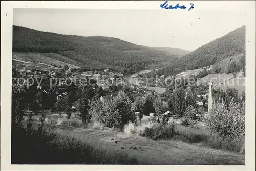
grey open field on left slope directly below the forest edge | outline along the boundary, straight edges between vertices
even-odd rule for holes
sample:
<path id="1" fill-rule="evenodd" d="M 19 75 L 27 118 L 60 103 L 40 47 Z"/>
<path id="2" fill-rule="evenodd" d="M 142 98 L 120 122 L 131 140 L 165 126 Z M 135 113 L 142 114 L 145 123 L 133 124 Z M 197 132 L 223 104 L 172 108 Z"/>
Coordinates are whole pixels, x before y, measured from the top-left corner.
<path id="1" fill-rule="evenodd" d="M 53 55 L 51 55 L 51 57 L 48 57 L 49 56 L 48 54 L 51 54 L 51 53 L 39 54 L 39 53 L 13 52 L 13 58 L 18 59 L 18 60 L 28 61 L 28 62 L 38 61 L 38 62 L 42 62 L 45 64 L 52 64 L 52 65 L 55 64 L 56 66 L 61 65 L 63 67 L 64 65 L 67 65 L 69 68 L 77 68 L 77 69 L 79 68 L 79 66 L 71 65 L 69 63 L 62 62 L 60 60 L 51 58 L 51 57 L 53 57 Z M 59 58 L 59 59 L 61 59 L 61 58 Z"/>

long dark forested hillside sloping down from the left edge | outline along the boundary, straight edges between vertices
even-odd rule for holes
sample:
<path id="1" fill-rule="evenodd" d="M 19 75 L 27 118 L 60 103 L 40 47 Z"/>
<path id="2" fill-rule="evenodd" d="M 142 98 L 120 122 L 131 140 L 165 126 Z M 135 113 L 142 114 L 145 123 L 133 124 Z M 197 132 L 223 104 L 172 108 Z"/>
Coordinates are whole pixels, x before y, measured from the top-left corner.
<path id="1" fill-rule="evenodd" d="M 138 71 L 177 57 L 117 38 L 60 35 L 20 26 L 13 26 L 13 52 L 55 53 L 84 67 L 110 67 L 124 72 Z"/>

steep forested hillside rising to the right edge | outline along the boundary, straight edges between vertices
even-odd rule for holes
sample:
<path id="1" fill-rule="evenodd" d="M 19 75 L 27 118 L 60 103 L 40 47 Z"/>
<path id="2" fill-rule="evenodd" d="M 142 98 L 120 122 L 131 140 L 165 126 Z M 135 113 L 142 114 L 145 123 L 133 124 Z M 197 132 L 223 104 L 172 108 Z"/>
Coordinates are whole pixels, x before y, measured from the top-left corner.
<path id="1" fill-rule="evenodd" d="M 181 58 L 176 58 L 175 61 L 170 61 L 159 70 L 159 74 L 176 75 L 185 70 L 210 66 L 239 54 L 245 54 L 245 25 Z M 245 62 L 242 63 L 245 65 Z"/>

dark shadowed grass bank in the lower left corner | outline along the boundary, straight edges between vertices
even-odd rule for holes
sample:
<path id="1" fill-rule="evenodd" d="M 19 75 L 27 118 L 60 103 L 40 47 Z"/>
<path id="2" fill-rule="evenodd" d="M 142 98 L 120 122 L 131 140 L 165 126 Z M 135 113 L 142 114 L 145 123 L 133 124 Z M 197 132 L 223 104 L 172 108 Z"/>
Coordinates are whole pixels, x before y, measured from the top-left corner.
<path id="1" fill-rule="evenodd" d="M 11 164 L 139 164 L 127 154 L 67 135 L 12 130 Z"/>

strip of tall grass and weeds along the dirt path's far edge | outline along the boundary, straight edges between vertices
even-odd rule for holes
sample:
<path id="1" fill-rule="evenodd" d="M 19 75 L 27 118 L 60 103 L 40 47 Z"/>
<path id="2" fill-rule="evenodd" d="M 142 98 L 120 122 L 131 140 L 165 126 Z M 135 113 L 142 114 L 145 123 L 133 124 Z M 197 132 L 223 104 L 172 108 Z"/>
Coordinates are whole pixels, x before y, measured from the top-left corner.
<path id="1" fill-rule="evenodd" d="M 170 139 L 187 143 L 202 143 L 202 145 L 214 149 L 223 149 L 241 154 L 245 153 L 244 138 L 231 140 L 216 134 L 211 134 L 209 130 L 204 128 L 191 128 L 181 125 L 175 125 L 173 128 L 173 125 L 170 123 L 162 125 L 143 120 L 140 125 L 135 125 L 131 122 L 126 124 L 124 126 L 124 133 L 129 135 L 138 134 L 150 137 L 153 140 Z"/>

